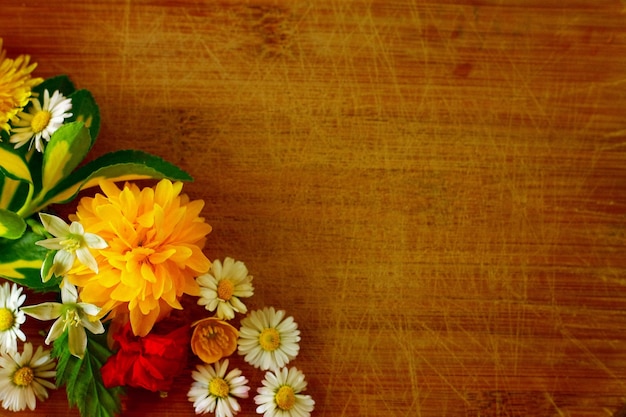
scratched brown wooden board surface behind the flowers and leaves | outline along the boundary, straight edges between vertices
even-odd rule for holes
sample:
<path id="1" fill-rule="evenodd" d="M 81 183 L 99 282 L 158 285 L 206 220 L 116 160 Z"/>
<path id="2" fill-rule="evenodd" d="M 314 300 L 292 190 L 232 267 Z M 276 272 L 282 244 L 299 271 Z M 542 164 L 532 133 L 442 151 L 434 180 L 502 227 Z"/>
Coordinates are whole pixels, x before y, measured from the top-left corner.
<path id="1" fill-rule="evenodd" d="M 0 36 L 92 91 L 93 155 L 195 177 L 314 416 L 624 415 L 624 0 L 24 0 Z"/>

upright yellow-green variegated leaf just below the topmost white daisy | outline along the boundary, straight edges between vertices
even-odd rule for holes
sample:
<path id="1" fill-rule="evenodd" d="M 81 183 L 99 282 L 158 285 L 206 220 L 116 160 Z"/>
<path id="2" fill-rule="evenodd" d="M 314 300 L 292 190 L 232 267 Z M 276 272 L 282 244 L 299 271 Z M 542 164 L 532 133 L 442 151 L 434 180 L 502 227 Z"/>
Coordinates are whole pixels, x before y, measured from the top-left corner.
<path id="1" fill-rule="evenodd" d="M 43 156 L 42 188 L 51 190 L 85 159 L 91 148 L 89 131 L 82 122 L 64 124 L 52 134 Z"/>

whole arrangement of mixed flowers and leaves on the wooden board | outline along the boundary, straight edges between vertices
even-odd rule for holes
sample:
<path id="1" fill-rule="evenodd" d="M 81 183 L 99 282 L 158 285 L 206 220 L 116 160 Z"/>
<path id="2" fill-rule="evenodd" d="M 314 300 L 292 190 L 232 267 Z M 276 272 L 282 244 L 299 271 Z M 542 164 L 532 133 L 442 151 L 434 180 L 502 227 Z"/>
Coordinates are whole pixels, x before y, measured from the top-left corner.
<path id="1" fill-rule="evenodd" d="M 26 55 L 7 58 L 0 39 L 2 407 L 34 410 L 64 386 L 82 416 L 114 416 L 125 387 L 166 393 L 192 354 L 195 412 L 232 416 L 250 391 L 230 368 L 237 352 L 266 371 L 259 414 L 309 416 L 305 377 L 288 366 L 298 326 L 273 307 L 248 312 L 245 264 L 205 255 L 211 226 L 204 202 L 183 193 L 191 177 L 140 151 L 86 162 L 101 122 L 92 94 L 67 76 L 34 77 L 35 67 Z M 29 305 L 31 293 L 49 301 Z M 189 298 L 205 314 L 177 319 Z M 229 323 L 237 314 L 239 329 Z M 27 317 L 52 322 L 46 346 L 26 340 Z"/>

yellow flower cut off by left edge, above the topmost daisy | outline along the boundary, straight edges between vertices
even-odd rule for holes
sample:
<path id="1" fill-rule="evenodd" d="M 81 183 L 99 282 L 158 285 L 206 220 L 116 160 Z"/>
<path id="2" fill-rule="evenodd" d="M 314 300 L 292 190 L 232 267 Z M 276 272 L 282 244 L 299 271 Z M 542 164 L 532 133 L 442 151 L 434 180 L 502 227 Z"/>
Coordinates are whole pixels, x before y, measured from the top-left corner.
<path id="1" fill-rule="evenodd" d="M 28 55 L 16 59 L 5 58 L 0 38 L 0 131 L 10 130 L 9 122 L 28 104 L 31 89 L 41 83 L 41 78 L 31 78 L 37 64 L 30 64 Z"/>

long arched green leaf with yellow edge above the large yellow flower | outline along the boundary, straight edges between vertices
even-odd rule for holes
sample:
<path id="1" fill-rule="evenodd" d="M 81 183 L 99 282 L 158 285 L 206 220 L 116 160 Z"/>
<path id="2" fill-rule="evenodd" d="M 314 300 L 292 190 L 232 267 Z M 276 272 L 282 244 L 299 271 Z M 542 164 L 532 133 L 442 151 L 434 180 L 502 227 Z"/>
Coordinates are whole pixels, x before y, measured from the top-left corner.
<path id="1" fill-rule="evenodd" d="M 192 181 L 193 178 L 157 156 L 141 151 L 122 150 L 111 152 L 82 166 L 50 191 L 45 204 L 66 203 L 80 190 L 97 186 L 102 180 L 134 181 L 163 179 Z"/>

